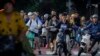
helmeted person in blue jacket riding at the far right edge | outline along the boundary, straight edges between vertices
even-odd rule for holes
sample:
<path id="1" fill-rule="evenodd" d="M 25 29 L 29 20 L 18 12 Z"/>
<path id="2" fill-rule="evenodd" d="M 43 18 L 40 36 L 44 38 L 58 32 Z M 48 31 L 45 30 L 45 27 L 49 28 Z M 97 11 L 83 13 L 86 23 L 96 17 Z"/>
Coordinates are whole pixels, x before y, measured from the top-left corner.
<path id="1" fill-rule="evenodd" d="M 100 22 L 98 22 L 98 15 L 92 15 L 92 22 L 87 25 L 85 29 L 89 29 L 91 35 L 92 44 L 91 47 L 88 49 L 88 51 L 90 52 L 94 45 L 97 42 L 100 42 Z M 95 56 L 96 53 L 97 51 L 93 52 L 92 55 Z"/>

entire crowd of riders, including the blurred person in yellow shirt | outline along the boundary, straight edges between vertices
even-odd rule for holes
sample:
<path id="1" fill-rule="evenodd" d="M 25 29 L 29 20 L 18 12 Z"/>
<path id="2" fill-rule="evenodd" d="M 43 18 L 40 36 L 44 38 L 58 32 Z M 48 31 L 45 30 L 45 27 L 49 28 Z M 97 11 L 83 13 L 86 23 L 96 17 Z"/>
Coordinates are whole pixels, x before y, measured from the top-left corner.
<path id="1" fill-rule="evenodd" d="M 37 11 L 20 13 L 14 10 L 14 4 L 6 1 L 0 12 L 0 56 L 35 56 L 35 50 L 41 55 L 41 47 L 52 51 L 53 55 L 71 56 L 72 50 L 91 53 L 95 56 L 100 42 L 100 21 L 98 14 L 87 18 L 77 11 L 69 13 L 40 14 Z M 93 51 L 93 47 L 96 48 Z"/>

